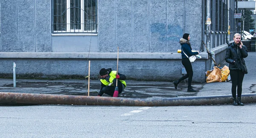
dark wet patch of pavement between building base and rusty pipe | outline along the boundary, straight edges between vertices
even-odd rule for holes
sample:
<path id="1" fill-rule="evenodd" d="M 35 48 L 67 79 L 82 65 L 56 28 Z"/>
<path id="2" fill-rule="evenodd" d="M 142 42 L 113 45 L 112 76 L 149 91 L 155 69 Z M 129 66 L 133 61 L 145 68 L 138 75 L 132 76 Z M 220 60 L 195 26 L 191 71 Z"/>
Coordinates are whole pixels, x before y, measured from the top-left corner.
<path id="1" fill-rule="evenodd" d="M 88 83 L 85 80 L 17 80 L 16 88 L 13 87 L 13 81 L 6 81 L 0 87 L 0 92 L 22 92 L 22 93 L 40 93 L 57 95 L 88 95 Z M 60 82 L 64 81 L 64 82 Z M 83 82 L 84 81 L 84 82 Z M 131 84 L 130 84 L 130 83 Z M 128 87 L 119 95 L 125 98 L 172 98 L 196 96 L 197 92 L 186 92 L 187 84 L 181 82 L 179 90 L 175 90 L 171 82 L 152 82 L 128 80 Z M 200 90 L 202 83 L 194 83 L 194 89 Z M 98 95 L 100 89 L 99 80 L 90 80 L 90 96 Z M 108 96 L 108 95 L 103 95 Z"/>

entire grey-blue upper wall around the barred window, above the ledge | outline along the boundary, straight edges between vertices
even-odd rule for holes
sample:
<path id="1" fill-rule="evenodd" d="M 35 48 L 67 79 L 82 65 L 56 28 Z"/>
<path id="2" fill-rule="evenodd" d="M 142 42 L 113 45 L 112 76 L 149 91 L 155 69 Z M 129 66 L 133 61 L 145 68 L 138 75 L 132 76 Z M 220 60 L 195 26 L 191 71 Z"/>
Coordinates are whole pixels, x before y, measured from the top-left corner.
<path id="1" fill-rule="evenodd" d="M 51 35 L 51 0 L 1 0 L 1 52 L 62 52 L 77 36 Z M 185 6 L 185 12 L 183 11 Z M 97 52 L 175 52 L 183 32 L 191 34 L 193 49 L 202 38 L 200 0 L 99 0 Z M 185 21 L 183 20 L 185 14 Z M 185 22 L 185 29 L 183 29 Z M 53 39 L 53 40 L 52 40 Z M 99 43 L 99 44 L 98 44 Z M 62 48 L 58 51 L 58 47 Z M 86 44 L 88 49 L 89 45 Z M 67 49 L 65 49 L 67 48 Z M 83 51 L 82 51 L 83 52 Z"/>

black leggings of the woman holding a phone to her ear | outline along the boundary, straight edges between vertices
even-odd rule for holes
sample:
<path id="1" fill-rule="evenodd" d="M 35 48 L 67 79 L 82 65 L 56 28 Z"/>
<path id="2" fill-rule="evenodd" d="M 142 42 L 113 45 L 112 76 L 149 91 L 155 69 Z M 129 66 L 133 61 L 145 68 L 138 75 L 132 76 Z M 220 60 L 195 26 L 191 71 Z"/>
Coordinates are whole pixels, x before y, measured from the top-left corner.
<path id="1" fill-rule="evenodd" d="M 236 97 L 236 86 L 237 86 L 237 97 L 241 98 L 242 95 L 242 83 L 244 79 L 244 73 L 241 70 L 230 70 L 230 77 L 232 81 L 232 97 Z"/>

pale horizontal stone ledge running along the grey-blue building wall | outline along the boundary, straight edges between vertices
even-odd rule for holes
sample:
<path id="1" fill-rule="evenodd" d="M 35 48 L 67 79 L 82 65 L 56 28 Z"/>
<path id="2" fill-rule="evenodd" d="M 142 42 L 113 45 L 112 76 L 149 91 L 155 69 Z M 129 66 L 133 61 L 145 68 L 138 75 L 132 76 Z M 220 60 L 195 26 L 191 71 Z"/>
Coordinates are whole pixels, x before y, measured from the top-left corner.
<path id="1" fill-rule="evenodd" d="M 55 59 L 116 59 L 116 52 L 0 52 L 0 58 L 55 58 Z M 208 59 L 206 52 L 201 52 L 201 59 Z M 119 59 L 181 59 L 180 53 L 119 52 Z"/>

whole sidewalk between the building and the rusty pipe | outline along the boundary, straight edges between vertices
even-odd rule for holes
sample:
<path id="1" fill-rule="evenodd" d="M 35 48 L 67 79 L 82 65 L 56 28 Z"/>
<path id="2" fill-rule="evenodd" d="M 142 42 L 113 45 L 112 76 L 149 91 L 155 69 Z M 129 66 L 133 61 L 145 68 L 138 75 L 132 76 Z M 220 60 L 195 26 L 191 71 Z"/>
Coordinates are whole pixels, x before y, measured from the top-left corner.
<path id="1" fill-rule="evenodd" d="M 256 93 L 256 52 L 249 52 L 245 58 L 248 74 L 244 76 L 243 92 Z M 226 64 L 227 63 L 222 63 Z M 87 80 L 16 80 L 13 88 L 12 79 L 0 79 L 0 92 L 58 94 L 58 95 L 87 95 Z M 187 81 L 186 81 L 187 82 Z M 172 82 L 126 80 L 127 87 L 119 97 L 123 98 L 173 98 L 193 96 L 231 95 L 231 81 L 217 83 L 196 83 L 192 86 L 197 92 L 186 92 L 187 83 L 182 81 L 178 89 Z M 99 80 L 90 80 L 90 96 L 96 96 L 100 89 Z M 108 95 L 103 95 L 108 96 Z"/>

